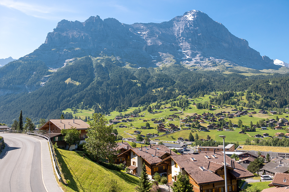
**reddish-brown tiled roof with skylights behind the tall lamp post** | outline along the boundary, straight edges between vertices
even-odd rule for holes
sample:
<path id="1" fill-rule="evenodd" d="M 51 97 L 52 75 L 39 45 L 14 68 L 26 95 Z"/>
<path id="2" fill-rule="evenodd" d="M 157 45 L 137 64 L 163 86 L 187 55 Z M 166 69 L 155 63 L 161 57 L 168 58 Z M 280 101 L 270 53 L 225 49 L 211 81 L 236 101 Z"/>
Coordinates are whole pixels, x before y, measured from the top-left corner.
<path id="1" fill-rule="evenodd" d="M 215 155 L 215 157 L 213 157 Z M 205 157 L 209 156 L 209 158 Z M 226 156 L 226 163 L 231 164 L 231 158 Z M 194 158 L 192 160 L 191 158 Z M 185 171 L 197 182 L 198 185 L 204 183 L 224 181 L 224 179 L 218 174 L 214 173 L 218 169 L 222 168 L 224 161 L 223 152 L 210 152 L 201 154 L 185 154 L 185 155 L 172 155 L 167 157 L 163 161 L 174 160 L 180 168 L 185 169 Z M 235 169 L 230 166 L 226 166 L 229 172 L 236 179 L 245 179 L 248 177 L 253 177 L 254 175 L 246 170 L 244 167 L 235 163 Z M 200 167 L 204 167 L 206 170 L 202 170 Z"/>

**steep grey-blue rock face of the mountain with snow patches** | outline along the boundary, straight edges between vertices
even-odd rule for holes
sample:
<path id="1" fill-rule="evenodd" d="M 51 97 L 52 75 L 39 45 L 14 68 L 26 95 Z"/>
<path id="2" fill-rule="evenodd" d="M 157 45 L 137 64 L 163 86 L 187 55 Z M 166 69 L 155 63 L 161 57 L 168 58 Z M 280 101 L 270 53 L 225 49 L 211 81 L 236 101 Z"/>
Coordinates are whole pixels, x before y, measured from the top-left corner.
<path id="1" fill-rule="evenodd" d="M 228 61 L 254 69 L 276 66 L 250 48 L 246 40 L 196 10 L 162 23 L 128 25 L 99 16 L 85 22 L 62 20 L 48 33 L 44 44 L 20 60 L 42 60 L 48 67 L 59 68 L 67 59 L 99 54 L 113 55 L 136 67 L 166 63 L 190 66 L 208 61 Z"/>

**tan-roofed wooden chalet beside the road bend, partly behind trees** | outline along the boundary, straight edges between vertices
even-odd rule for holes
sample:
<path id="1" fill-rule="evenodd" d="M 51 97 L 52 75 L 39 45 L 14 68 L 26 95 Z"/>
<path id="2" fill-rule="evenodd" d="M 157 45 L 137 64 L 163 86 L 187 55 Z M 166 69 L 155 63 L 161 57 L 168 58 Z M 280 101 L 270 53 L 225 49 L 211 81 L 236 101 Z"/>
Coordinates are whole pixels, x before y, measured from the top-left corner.
<path id="1" fill-rule="evenodd" d="M 64 141 L 64 135 L 61 134 L 61 130 L 76 128 L 80 131 L 79 138 L 80 143 L 82 143 L 85 138 L 87 138 L 87 129 L 89 128 L 89 124 L 85 123 L 81 119 L 51 119 L 42 125 L 39 130 L 44 130 L 45 134 L 49 136 L 49 128 L 51 142 L 53 144 L 57 143 L 58 146 L 66 147 L 66 149 L 68 149 L 68 145 L 66 141 Z M 73 150 L 74 148 L 75 145 L 71 145 L 69 150 Z"/>

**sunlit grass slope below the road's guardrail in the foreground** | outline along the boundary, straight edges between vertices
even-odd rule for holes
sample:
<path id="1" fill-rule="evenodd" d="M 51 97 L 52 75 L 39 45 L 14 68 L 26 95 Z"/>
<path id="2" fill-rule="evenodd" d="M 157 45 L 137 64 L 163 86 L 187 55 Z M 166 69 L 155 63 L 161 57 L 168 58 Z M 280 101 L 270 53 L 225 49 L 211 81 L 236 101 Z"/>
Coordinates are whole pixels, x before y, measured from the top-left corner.
<path id="1" fill-rule="evenodd" d="M 65 192 L 135 191 L 136 176 L 104 168 L 74 151 L 58 149 L 57 158 L 62 169 L 62 177 L 71 181 L 69 186 L 60 184 Z"/>

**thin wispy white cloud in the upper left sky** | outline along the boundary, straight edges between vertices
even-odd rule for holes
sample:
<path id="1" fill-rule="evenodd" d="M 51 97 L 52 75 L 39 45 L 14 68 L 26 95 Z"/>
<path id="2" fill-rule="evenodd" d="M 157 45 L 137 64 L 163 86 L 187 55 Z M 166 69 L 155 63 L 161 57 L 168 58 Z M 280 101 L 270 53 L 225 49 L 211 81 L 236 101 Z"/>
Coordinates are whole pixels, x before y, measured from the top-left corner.
<path id="1" fill-rule="evenodd" d="M 67 10 L 63 10 L 58 7 L 49 7 L 45 5 L 39 5 L 36 3 L 25 3 L 22 1 L 13 1 L 13 0 L 0 0 L 0 5 L 10 9 L 19 10 L 22 13 L 25 13 L 26 15 L 29 16 L 45 19 L 59 19 L 55 17 L 54 15 L 55 13 L 60 11 L 67 12 Z"/>

